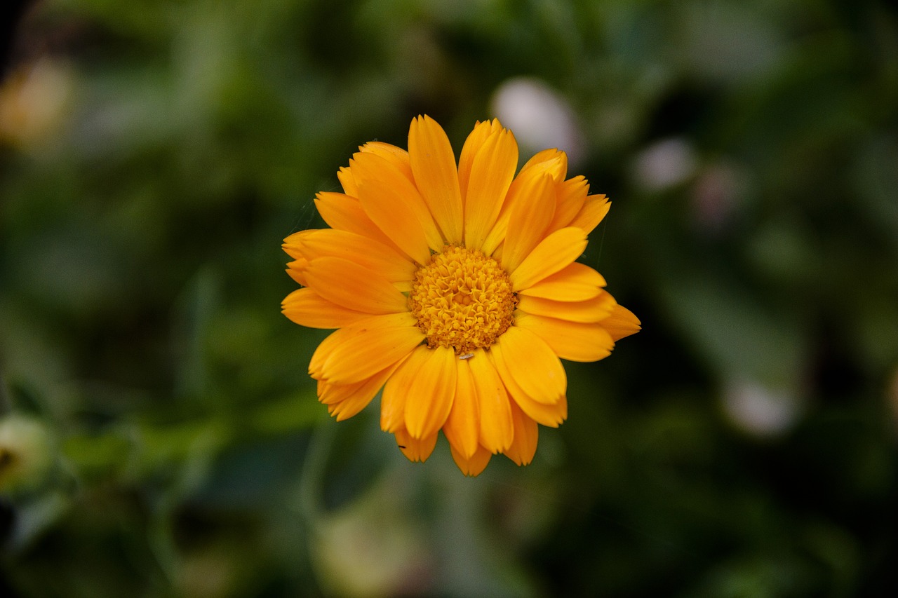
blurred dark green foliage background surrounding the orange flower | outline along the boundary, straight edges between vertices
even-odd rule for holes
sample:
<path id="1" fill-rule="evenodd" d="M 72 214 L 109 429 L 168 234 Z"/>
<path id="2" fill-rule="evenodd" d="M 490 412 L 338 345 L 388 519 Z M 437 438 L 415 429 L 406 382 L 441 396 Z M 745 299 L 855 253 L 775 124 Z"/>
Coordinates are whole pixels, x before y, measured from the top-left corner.
<path id="1" fill-rule="evenodd" d="M 43 0 L 0 87 L 0 594 L 898 588 L 898 12 L 835 0 Z M 287 234 L 427 113 L 613 207 L 644 330 L 532 465 L 336 423 Z M 523 163 L 523 161 L 522 161 Z"/>

